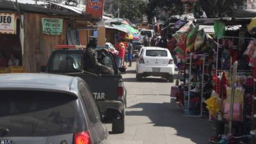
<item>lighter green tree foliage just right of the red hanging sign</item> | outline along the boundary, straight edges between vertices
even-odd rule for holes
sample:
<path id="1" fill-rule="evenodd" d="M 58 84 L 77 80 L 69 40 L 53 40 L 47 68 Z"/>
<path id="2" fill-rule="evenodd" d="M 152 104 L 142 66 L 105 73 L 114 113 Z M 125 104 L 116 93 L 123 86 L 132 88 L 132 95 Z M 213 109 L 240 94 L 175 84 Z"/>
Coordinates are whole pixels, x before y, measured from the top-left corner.
<path id="1" fill-rule="evenodd" d="M 147 9 L 147 3 L 141 0 L 106 0 L 104 11 L 117 17 L 117 10 L 120 8 L 120 17 L 140 21 Z"/>

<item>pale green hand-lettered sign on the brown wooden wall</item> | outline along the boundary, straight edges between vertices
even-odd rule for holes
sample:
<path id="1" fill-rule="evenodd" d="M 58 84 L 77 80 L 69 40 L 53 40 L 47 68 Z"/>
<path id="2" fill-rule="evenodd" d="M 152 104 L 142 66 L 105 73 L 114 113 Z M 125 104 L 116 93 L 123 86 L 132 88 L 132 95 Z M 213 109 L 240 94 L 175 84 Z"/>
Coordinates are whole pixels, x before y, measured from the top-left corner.
<path id="1" fill-rule="evenodd" d="M 63 19 L 42 18 L 42 31 L 47 35 L 61 35 Z"/>

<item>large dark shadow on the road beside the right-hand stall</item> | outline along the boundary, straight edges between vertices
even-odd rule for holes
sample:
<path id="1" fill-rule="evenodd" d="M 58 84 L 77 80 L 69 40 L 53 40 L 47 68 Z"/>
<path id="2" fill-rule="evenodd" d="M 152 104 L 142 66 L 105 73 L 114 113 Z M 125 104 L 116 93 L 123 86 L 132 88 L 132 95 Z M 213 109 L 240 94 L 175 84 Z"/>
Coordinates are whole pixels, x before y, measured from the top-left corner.
<path id="1" fill-rule="evenodd" d="M 173 127 L 177 136 L 189 138 L 197 144 L 208 143 L 208 138 L 213 134 L 211 124 L 207 120 L 183 116 L 183 111 L 172 109 L 167 102 L 140 103 L 129 108 L 142 108 L 143 111 L 126 111 L 126 115 L 148 116 L 154 126 Z"/>

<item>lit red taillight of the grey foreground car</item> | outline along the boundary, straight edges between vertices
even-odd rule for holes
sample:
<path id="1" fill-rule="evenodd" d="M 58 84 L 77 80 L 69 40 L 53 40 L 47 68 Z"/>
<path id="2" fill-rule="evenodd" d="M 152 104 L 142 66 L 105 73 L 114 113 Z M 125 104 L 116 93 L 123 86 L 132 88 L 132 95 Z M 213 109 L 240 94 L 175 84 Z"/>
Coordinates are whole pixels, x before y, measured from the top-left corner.
<path id="1" fill-rule="evenodd" d="M 75 133 L 74 144 L 92 144 L 89 132 L 83 131 Z"/>

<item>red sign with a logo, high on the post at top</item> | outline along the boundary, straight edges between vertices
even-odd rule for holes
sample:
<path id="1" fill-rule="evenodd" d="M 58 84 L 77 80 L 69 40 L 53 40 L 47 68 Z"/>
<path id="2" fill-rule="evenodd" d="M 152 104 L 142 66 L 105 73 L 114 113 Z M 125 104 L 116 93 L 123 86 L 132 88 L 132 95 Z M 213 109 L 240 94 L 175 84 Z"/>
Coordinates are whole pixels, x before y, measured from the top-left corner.
<path id="1" fill-rule="evenodd" d="M 86 13 L 92 14 L 92 17 L 102 19 L 104 0 L 87 0 Z"/>

